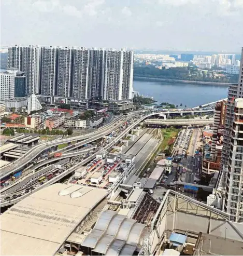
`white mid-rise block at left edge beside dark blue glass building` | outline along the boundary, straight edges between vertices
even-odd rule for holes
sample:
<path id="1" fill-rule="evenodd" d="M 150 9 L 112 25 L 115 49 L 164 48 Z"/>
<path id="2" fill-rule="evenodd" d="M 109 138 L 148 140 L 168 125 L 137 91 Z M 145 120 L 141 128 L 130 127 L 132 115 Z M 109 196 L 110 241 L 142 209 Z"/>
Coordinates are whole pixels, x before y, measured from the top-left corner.
<path id="1" fill-rule="evenodd" d="M 11 100 L 15 97 L 15 74 L 1 72 L 1 100 Z"/>

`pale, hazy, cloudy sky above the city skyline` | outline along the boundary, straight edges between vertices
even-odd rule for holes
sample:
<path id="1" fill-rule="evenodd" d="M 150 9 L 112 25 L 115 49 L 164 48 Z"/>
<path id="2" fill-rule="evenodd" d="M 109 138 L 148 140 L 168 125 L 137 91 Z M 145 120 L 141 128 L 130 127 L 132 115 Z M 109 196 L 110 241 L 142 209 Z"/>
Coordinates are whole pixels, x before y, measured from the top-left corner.
<path id="1" fill-rule="evenodd" d="M 1 0 L 1 44 L 240 52 L 243 0 Z"/>

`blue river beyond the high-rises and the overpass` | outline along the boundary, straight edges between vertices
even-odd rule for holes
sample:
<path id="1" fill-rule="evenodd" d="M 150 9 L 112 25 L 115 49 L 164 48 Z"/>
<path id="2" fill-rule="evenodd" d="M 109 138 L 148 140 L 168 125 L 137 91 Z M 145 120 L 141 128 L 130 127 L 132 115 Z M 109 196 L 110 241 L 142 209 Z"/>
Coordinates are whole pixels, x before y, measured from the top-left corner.
<path id="1" fill-rule="evenodd" d="M 133 89 L 144 97 L 153 97 L 158 103 L 169 102 L 178 106 L 182 103 L 183 107 L 194 107 L 227 98 L 228 91 L 228 87 L 224 85 L 150 82 L 136 79 L 133 81 Z"/>

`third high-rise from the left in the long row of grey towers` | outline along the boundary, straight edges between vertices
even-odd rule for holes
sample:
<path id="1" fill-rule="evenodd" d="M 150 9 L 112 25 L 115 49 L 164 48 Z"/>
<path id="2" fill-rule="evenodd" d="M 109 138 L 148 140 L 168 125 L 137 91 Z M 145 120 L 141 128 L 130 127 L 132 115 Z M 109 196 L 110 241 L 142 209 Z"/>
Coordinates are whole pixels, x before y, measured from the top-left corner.
<path id="1" fill-rule="evenodd" d="M 41 47 L 41 95 L 55 95 L 59 47 Z"/>

